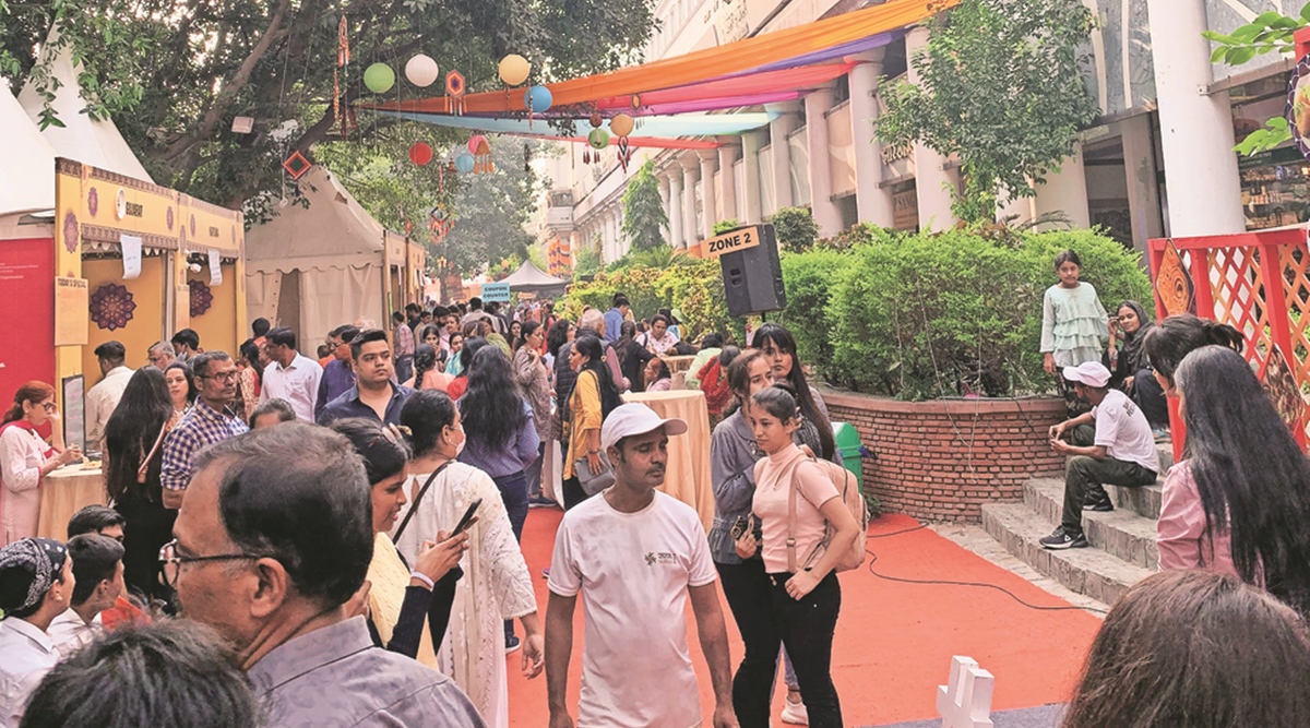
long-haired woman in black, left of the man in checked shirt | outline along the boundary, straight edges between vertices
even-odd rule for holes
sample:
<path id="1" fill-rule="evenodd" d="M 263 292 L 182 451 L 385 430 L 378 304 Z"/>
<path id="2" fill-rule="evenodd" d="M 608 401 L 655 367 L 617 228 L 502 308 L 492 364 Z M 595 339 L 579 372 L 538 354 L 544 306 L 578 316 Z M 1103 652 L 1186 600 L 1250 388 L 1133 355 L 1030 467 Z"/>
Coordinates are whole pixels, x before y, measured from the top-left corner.
<path id="1" fill-rule="evenodd" d="M 172 367 L 169 368 L 172 369 Z M 177 424 L 164 374 L 138 369 L 105 426 L 105 490 L 123 516 L 123 581 L 147 601 L 169 598 L 160 584 L 160 549 L 173 538 L 177 511 L 164 507 L 164 437 Z"/>

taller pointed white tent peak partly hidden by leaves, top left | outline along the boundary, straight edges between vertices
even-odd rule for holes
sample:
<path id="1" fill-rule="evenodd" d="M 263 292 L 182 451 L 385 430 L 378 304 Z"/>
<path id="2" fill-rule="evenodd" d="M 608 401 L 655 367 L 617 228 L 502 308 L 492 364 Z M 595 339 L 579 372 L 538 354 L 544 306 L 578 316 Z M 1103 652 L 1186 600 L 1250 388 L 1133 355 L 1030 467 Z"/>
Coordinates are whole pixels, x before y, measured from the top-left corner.
<path id="1" fill-rule="evenodd" d="M 51 41 L 58 38 L 58 30 L 51 30 L 50 38 Z M 45 56 L 42 60 L 45 60 Z M 86 102 L 81 98 L 81 86 L 77 82 L 77 75 L 79 69 L 73 65 L 72 47 L 64 46 L 50 64 L 51 80 L 59 81 L 59 88 L 54 92 L 55 100 L 51 102 L 51 106 L 59 114 L 59 120 L 64 126 L 46 127 L 41 131 L 41 135 L 46 137 L 46 141 L 50 143 L 50 147 L 60 157 L 68 157 L 100 169 L 117 172 L 134 179 L 153 182 L 151 175 L 145 173 L 145 168 L 141 166 L 140 160 L 136 158 L 136 155 L 127 145 L 127 141 L 123 140 L 123 135 L 119 134 L 114 122 L 111 119 L 97 122 L 84 113 Z M 28 80 L 26 85 L 22 86 L 22 92 L 18 93 L 18 103 L 28 113 L 31 123 L 39 122 L 45 100 L 37 93 L 34 81 Z M 8 141 L 5 139 L 5 147 L 9 147 Z M 51 168 L 50 174 L 50 191 L 51 196 L 54 196 L 54 168 Z M 54 207 L 52 202 L 50 207 Z"/>

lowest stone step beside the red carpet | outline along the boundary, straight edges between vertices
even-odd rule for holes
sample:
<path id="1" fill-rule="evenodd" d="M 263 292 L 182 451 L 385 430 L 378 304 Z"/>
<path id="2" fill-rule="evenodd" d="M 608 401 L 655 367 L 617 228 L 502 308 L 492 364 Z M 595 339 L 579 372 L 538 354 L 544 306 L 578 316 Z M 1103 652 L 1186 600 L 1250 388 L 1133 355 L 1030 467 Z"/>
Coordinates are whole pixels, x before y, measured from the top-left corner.
<path id="1" fill-rule="evenodd" d="M 1049 536 L 1055 525 L 1023 504 L 982 505 L 982 528 L 1032 568 L 1104 604 L 1115 604 L 1129 587 L 1151 573 L 1150 570 L 1095 547 L 1062 551 L 1043 549 L 1039 539 Z"/>

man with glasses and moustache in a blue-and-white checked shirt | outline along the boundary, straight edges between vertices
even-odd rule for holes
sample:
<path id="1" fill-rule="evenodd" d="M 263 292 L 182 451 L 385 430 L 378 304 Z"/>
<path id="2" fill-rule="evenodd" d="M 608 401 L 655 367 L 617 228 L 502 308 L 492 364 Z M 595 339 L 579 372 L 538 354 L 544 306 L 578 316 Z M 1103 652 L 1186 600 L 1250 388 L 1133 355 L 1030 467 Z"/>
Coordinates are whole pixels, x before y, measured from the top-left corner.
<path id="1" fill-rule="evenodd" d="M 237 397 L 237 365 L 223 351 L 208 351 L 191 360 L 200 395 L 191 414 L 164 439 L 164 505 L 179 508 L 191 483 L 195 454 L 203 448 L 249 431 L 232 409 Z"/>

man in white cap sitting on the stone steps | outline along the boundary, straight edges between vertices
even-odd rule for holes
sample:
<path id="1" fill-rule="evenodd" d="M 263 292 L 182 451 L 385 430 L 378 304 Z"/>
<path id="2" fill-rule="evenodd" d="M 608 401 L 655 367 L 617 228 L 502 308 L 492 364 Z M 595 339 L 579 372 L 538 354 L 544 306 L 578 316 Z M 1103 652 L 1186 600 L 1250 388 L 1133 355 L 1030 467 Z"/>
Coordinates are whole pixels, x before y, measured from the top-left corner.
<path id="1" fill-rule="evenodd" d="M 1073 456 L 1065 466 L 1065 507 L 1060 528 L 1041 539 L 1047 549 L 1082 549 L 1082 508 L 1114 511 L 1102 486 L 1138 487 L 1155 482 L 1159 453 L 1146 415 L 1117 389 L 1110 389 L 1110 369 L 1099 361 L 1065 367 L 1078 399 L 1091 411 L 1051 428 L 1051 448 Z M 1093 427 L 1095 424 L 1095 427 Z M 1069 436 L 1069 441 L 1061 437 Z"/>

